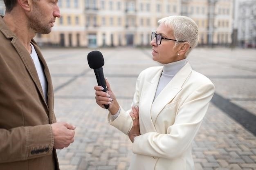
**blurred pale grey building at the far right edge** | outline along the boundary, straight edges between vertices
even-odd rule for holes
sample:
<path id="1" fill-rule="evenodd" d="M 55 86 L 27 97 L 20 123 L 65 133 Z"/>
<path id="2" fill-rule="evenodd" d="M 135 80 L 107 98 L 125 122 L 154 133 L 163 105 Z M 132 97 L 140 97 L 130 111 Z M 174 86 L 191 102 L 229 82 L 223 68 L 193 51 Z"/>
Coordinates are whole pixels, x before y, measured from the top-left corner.
<path id="1" fill-rule="evenodd" d="M 238 44 L 256 47 L 256 0 L 243 0 L 238 7 Z"/>

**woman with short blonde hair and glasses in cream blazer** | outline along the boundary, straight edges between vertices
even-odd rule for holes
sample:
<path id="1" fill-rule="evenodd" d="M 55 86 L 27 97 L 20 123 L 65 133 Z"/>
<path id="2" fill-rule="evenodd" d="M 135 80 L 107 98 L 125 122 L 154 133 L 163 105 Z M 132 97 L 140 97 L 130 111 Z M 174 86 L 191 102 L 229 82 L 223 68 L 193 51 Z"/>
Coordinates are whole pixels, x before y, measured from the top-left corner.
<path id="1" fill-rule="evenodd" d="M 133 142 L 129 170 L 193 170 L 192 141 L 200 128 L 214 85 L 192 70 L 187 55 L 198 43 L 198 26 L 185 16 L 158 21 L 152 33 L 153 60 L 163 66 L 145 69 L 137 79 L 132 109 L 119 106 L 94 86 L 99 106 L 109 104 L 109 123 Z M 130 113 L 130 114 L 129 114 Z"/>

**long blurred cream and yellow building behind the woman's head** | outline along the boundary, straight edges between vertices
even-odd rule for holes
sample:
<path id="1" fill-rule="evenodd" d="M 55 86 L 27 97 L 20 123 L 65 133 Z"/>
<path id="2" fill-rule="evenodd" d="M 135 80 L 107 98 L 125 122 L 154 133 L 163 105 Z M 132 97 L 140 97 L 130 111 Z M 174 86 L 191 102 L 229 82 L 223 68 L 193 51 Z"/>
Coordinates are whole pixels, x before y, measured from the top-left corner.
<path id="1" fill-rule="evenodd" d="M 61 18 L 42 45 L 147 46 L 157 20 L 186 15 L 199 26 L 199 45 L 230 44 L 233 0 L 59 0 Z"/>

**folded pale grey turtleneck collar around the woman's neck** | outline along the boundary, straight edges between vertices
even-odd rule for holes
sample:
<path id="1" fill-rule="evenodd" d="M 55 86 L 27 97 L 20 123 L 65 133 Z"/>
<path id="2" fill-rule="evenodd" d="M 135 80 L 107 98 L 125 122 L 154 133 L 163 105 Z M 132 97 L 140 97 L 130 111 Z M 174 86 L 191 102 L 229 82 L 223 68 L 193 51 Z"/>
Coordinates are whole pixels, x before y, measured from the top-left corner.
<path id="1" fill-rule="evenodd" d="M 178 71 L 180 71 L 180 69 L 186 64 L 187 61 L 188 61 L 188 59 L 185 58 L 185 59 L 179 60 L 177 62 L 163 64 L 164 67 L 163 67 L 162 74 L 174 76 Z"/>

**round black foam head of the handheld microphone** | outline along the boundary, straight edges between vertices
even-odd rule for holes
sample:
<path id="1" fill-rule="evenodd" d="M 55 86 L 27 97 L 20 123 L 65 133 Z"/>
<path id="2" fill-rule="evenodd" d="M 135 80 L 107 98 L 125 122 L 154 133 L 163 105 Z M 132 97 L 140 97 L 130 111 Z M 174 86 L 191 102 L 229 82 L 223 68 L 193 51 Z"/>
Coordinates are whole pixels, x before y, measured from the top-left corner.
<path id="1" fill-rule="evenodd" d="M 97 69 L 104 66 L 104 58 L 99 51 L 91 51 L 88 53 L 87 60 L 90 68 Z"/>

